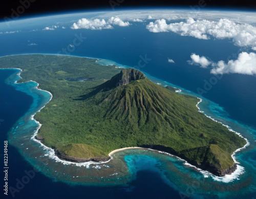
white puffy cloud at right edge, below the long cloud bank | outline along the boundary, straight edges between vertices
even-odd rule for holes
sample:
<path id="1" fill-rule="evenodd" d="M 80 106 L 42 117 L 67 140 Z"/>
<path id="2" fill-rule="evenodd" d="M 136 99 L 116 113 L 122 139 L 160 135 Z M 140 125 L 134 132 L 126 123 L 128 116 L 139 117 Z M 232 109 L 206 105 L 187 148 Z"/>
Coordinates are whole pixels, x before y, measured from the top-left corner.
<path id="1" fill-rule="evenodd" d="M 237 60 L 229 60 L 225 63 L 223 60 L 213 63 L 212 74 L 229 74 L 238 73 L 243 75 L 256 74 L 256 54 L 242 52 L 238 55 Z"/>

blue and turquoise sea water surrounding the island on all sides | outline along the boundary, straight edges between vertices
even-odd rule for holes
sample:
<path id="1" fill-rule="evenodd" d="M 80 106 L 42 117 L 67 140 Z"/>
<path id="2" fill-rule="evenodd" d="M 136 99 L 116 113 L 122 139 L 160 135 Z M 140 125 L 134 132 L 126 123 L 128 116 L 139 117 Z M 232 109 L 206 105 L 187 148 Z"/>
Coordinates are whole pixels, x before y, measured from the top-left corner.
<path id="1" fill-rule="evenodd" d="M 243 14 L 247 15 L 246 12 Z M 138 65 L 141 56 L 147 55 L 152 60 L 140 70 L 146 72 L 148 78 L 162 85 L 179 87 L 184 94 L 200 97 L 196 94 L 197 88 L 203 88 L 204 80 L 209 80 L 212 74 L 209 69 L 189 65 L 187 60 L 190 59 L 191 53 L 205 56 L 215 62 L 219 60 L 227 62 L 229 59 L 236 59 L 241 50 L 228 39 L 199 40 L 170 32 L 151 33 L 145 25 L 154 20 L 145 20 L 145 24 L 133 23 L 131 27 L 115 27 L 112 30 L 71 30 L 69 27 L 74 21 L 82 17 L 98 17 L 98 14 L 80 13 L 13 21 L 10 31 L 20 30 L 20 32 L 1 34 L 0 54 L 1 56 L 35 52 L 56 54 L 72 43 L 75 34 L 82 34 L 87 39 L 77 46 L 71 55 L 103 58 L 99 59 L 98 63 L 106 67 L 117 64 L 116 62 L 121 67 L 133 67 Z M 57 22 L 64 23 L 66 29 L 42 31 L 46 26 L 57 25 Z M 5 23 L 1 23 L 0 28 L 1 32 L 5 32 Z M 29 46 L 28 43 L 32 42 L 37 45 Z M 167 58 L 174 59 L 175 63 L 168 63 Z M 36 172 L 35 178 L 15 193 L 15 198 L 39 199 L 49 198 L 49 195 L 51 198 L 111 199 L 120 198 L 120 195 L 122 198 L 255 198 L 256 87 L 254 85 L 256 79 L 254 76 L 224 75 L 212 90 L 203 94 L 205 98 L 201 97 L 203 101 L 199 104 L 206 115 L 240 132 L 250 142 L 246 149 L 235 156 L 244 168 L 244 173 L 236 176 L 233 181 L 228 178 L 212 178 L 207 173 L 198 172 L 195 168 L 184 165 L 182 160 L 148 150 L 120 151 L 115 153 L 112 162 L 103 165 L 78 167 L 56 162 L 50 149 L 31 140 L 38 127 L 35 121 L 31 121 L 31 116 L 49 101 L 50 95 L 36 90 L 34 82 L 13 84 L 17 79 L 16 74 L 13 74 L 6 82 L 23 94 L 25 92 L 27 97 L 17 90 L 10 90 L 13 94 L 10 95 L 12 100 L 6 98 L 6 101 L 0 104 L 0 110 L 3 106 L 10 107 L 12 112 L 10 111 L 9 115 L 17 116 L 13 121 L 7 120 L 5 115 L 0 116 L 0 137 L 6 140 L 8 136 L 10 141 L 9 161 L 12 165 L 9 172 L 10 186 L 16 188 L 16 180 L 22 180 L 27 175 L 26 170 L 34 170 L 33 166 L 41 172 Z M 1 86 L 0 90 L 3 88 L 4 91 L 1 95 L 2 99 L 7 95 L 4 90 L 7 85 L 1 84 Z M 8 129 L 2 131 L 2 127 L 8 122 L 9 124 L 13 122 L 11 124 L 13 128 L 7 135 Z M 220 180 L 229 180 L 229 182 L 223 183 L 219 182 Z"/>

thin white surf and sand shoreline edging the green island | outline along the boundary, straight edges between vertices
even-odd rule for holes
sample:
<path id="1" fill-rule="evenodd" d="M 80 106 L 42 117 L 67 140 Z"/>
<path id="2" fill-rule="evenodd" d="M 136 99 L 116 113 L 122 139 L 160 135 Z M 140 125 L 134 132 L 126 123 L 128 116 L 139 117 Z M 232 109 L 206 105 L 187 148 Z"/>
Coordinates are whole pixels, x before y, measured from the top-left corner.
<path id="1" fill-rule="evenodd" d="M 52 54 L 51 54 L 51 55 L 52 55 Z M 58 54 L 57 54 L 57 55 L 58 55 Z M 15 56 L 15 55 L 13 55 L 13 56 Z M 54 56 L 54 55 L 53 55 L 53 56 Z M 68 55 L 58 55 L 58 56 L 68 56 Z M 88 57 L 83 57 L 83 58 L 88 58 Z M 95 59 L 95 58 L 93 58 L 93 59 Z M 9 69 L 18 69 L 18 68 L 9 68 Z M 19 73 L 17 74 L 17 76 L 20 77 L 20 74 L 22 73 L 22 69 L 18 69 L 18 70 L 19 70 Z M 22 77 L 20 77 L 20 78 L 22 78 Z M 30 80 L 30 81 L 32 81 L 32 80 Z M 27 82 L 30 82 L 30 81 L 27 81 Z M 32 81 L 32 82 L 35 82 L 35 81 Z M 17 84 L 17 81 L 15 81 L 14 83 Z M 23 83 L 25 83 L 25 82 L 23 82 Z M 37 83 L 37 82 L 35 82 L 35 83 Z M 36 90 L 40 90 L 40 89 L 38 89 L 38 85 L 39 85 L 39 84 L 37 83 L 37 86 L 35 87 Z M 40 91 L 44 91 L 44 90 L 40 90 Z M 51 99 L 52 99 L 53 96 L 52 96 L 52 94 L 51 94 L 50 92 L 48 92 L 48 91 L 44 91 L 44 92 L 47 92 L 47 93 L 49 93 L 49 94 L 51 95 L 50 100 L 47 102 L 47 103 L 49 103 L 49 102 L 51 101 Z M 197 107 L 198 107 L 199 103 L 202 102 L 202 99 L 201 99 L 201 98 L 199 98 L 199 99 L 200 99 L 200 101 L 197 103 L 197 105 L 196 105 Z M 47 103 L 46 103 L 46 104 L 47 104 Z M 45 104 L 43 107 L 41 107 L 37 112 L 40 112 L 40 110 L 41 110 L 42 108 L 44 108 L 44 107 L 46 106 L 46 104 Z M 198 107 L 198 109 L 199 109 L 199 112 L 203 113 L 203 112 L 200 110 L 199 107 Z M 36 113 L 37 113 L 37 112 L 36 112 Z M 137 148 L 140 148 L 140 149 L 147 149 L 147 150 L 155 150 L 155 149 L 142 148 L 142 147 L 125 147 L 125 148 L 121 148 L 121 149 L 116 149 L 116 150 L 113 150 L 113 151 L 111 151 L 111 152 L 109 153 L 109 156 L 110 156 L 111 159 L 108 160 L 108 161 L 106 161 L 106 162 L 93 162 L 93 161 L 90 161 L 90 162 L 84 162 L 84 163 L 74 163 L 74 162 L 69 162 L 69 161 L 61 160 L 61 159 L 59 159 L 57 156 L 55 156 L 55 151 L 54 151 L 54 149 L 45 146 L 45 145 L 42 144 L 39 140 L 35 139 L 35 136 L 37 135 L 38 130 L 40 129 L 40 127 L 41 127 L 41 125 L 42 125 L 42 124 L 40 124 L 38 121 L 36 121 L 36 120 L 34 119 L 34 116 L 35 116 L 36 113 L 34 113 L 34 114 L 31 116 L 31 120 L 34 120 L 34 121 L 38 124 L 38 127 L 37 127 L 36 131 L 34 132 L 34 135 L 31 137 L 31 139 L 34 140 L 34 141 L 36 141 L 37 143 L 40 143 L 41 146 L 44 146 L 44 150 L 47 149 L 47 150 L 49 151 L 49 155 L 48 155 L 49 157 L 55 159 L 57 162 L 62 162 L 63 164 L 75 164 L 75 165 L 77 165 L 77 166 L 86 166 L 86 167 L 88 168 L 88 166 L 89 166 L 90 164 L 102 164 L 102 163 L 107 163 L 107 162 L 109 162 L 110 160 L 113 159 L 112 154 L 114 154 L 115 152 L 118 152 L 118 151 L 127 150 L 127 149 L 137 149 Z M 205 114 L 204 114 L 204 115 L 205 115 Z M 205 116 L 208 117 L 208 118 L 210 118 L 210 119 L 212 119 L 212 120 L 214 120 L 214 121 L 216 121 L 216 122 L 219 122 L 219 121 L 217 121 L 217 120 L 211 118 L 210 116 L 207 116 L 207 115 L 205 115 Z M 221 122 L 219 122 L 219 123 L 221 123 Z M 224 125 L 223 123 L 221 123 L 221 124 Z M 241 134 L 239 134 L 239 133 L 236 132 L 236 131 L 233 131 L 232 129 L 230 129 L 229 126 L 227 126 L 227 125 L 224 125 L 224 126 L 228 127 L 228 129 L 229 129 L 230 131 L 235 132 L 235 133 L 238 134 L 240 137 L 242 137 Z M 242 138 L 244 138 L 244 137 L 242 137 Z M 245 139 L 245 138 L 244 138 L 244 139 Z M 234 154 L 249 145 L 248 140 L 247 140 L 247 139 L 245 139 L 245 140 L 246 140 L 246 142 L 247 142 L 246 145 L 243 146 L 242 148 L 239 148 L 239 149 L 237 149 L 236 151 L 233 152 L 232 158 L 233 158 L 234 162 L 236 162 L 236 160 L 235 160 L 234 157 L 233 157 Z M 174 156 L 173 154 L 170 154 L 170 153 L 167 153 L 167 152 L 163 152 L 163 151 L 160 151 L 160 150 L 155 150 L 155 151 L 160 152 L 160 153 L 166 153 L 166 154 L 168 154 L 168 155 L 170 155 L 170 156 Z M 174 157 L 177 157 L 177 156 L 174 156 Z M 185 161 L 184 159 L 181 159 L 181 158 L 179 158 L 179 157 L 177 157 L 177 158 L 180 159 L 180 160 Z M 197 168 L 196 166 L 187 163 L 187 161 L 185 161 L 184 165 L 188 165 L 188 166 Z M 198 169 L 198 170 L 202 170 L 202 169 L 199 169 L 199 168 L 197 168 L 197 169 Z M 204 171 L 204 170 L 202 170 L 202 171 Z M 207 172 L 207 171 L 204 171 L 204 172 Z M 211 173 L 210 173 L 210 174 L 211 174 Z M 213 174 L 212 174 L 212 175 L 213 175 Z M 214 176 L 216 176 L 216 175 L 214 175 Z M 226 175 L 225 175 L 225 176 L 226 176 Z M 218 177 L 218 176 L 216 176 L 216 177 L 217 177 L 217 178 L 224 178 L 225 176 L 223 176 L 223 177 Z"/>

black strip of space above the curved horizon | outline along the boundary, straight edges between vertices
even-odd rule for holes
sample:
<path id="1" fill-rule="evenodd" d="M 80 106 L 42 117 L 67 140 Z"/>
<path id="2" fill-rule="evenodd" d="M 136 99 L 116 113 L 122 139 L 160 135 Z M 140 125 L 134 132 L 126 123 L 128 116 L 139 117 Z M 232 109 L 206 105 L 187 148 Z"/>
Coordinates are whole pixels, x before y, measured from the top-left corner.
<path id="1" fill-rule="evenodd" d="M 20 18 L 38 14 L 53 14 L 60 12 L 74 12 L 75 10 L 97 10 L 104 9 L 126 9 L 132 7 L 200 7 L 210 8 L 235 8 L 256 10 L 256 2 L 251 0 L 230 1 L 230 0 L 12 0 L 2 1 L 0 6 L 0 18 L 15 16 L 20 12 Z"/>

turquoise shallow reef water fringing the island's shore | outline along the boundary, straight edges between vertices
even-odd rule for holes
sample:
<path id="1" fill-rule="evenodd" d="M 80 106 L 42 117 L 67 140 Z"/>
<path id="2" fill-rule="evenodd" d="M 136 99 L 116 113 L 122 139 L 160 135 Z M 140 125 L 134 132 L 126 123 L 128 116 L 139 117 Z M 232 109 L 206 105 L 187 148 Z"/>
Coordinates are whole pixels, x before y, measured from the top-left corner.
<path id="1" fill-rule="evenodd" d="M 125 67 L 125 65 L 108 60 L 99 60 L 98 63 L 104 64 L 106 67 L 110 64 Z M 160 180 L 170 187 L 168 192 L 177 195 L 197 198 L 203 196 L 213 196 L 214 198 L 217 195 L 220 197 L 250 198 L 255 193 L 256 132 L 249 126 L 230 120 L 228 114 L 218 104 L 203 98 L 199 107 L 206 115 L 240 132 L 250 142 L 246 149 L 236 154 L 236 160 L 243 167 L 243 174 L 237 175 L 233 180 L 230 180 L 230 178 L 216 178 L 209 173 L 199 172 L 189 165 L 184 165 L 184 161 L 168 154 L 141 149 L 115 153 L 114 159 L 108 163 L 76 166 L 56 161 L 51 149 L 45 148 L 31 139 L 38 128 L 38 123 L 31 120 L 31 116 L 45 106 L 51 99 L 51 95 L 48 92 L 37 90 L 36 82 L 15 84 L 14 82 L 19 79 L 18 73 L 18 70 L 14 71 L 6 80 L 6 83 L 13 85 L 17 91 L 22 91 L 33 97 L 34 100 L 27 113 L 10 130 L 8 134 L 9 141 L 18 148 L 18 151 L 26 161 L 39 169 L 41 173 L 50 177 L 54 182 L 66 182 L 69 185 L 76 186 L 96 185 L 111 187 L 113 185 L 128 184 L 128 188 L 126 188 L 133 192 L 133 188 L 129 187 L 129 183 L 136 182 L 139 174 L 146 171 L 157 174 Z M 155 79 L 148 74 L 146 75 L 156 83 L 177 87 L 160 79 Z M 183 88 L 180 89 L 183 94 L 199 97 L 193 92 L 186 91 Z"/>

